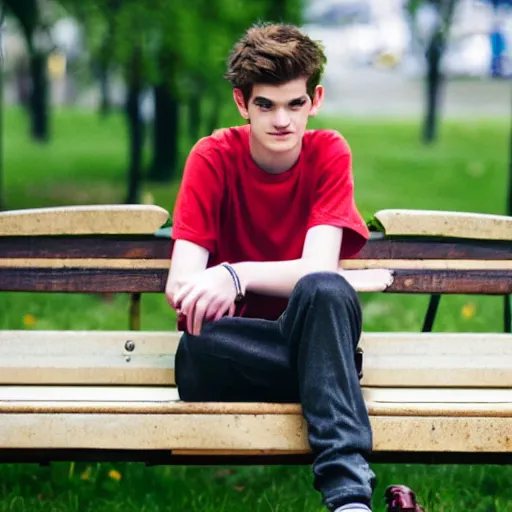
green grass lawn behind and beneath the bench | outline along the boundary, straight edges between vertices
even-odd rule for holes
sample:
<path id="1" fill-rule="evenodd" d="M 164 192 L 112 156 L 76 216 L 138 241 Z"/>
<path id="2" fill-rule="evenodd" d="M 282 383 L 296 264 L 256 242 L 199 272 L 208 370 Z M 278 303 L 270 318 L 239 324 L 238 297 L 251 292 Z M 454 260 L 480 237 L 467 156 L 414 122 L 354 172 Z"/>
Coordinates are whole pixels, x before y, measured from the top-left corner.
<path id="1" fill-rule="evenodd" d="M 236 119 L 236 118 L 235 118 Z M 358 121 L 323 117 L 313 126 L 340 130 L 354 156 L 356 199 L 366 219 L 384 208 L 429 208 L 504 213 L 509 125 L 504 120 L 446 121 L 439 142 L 419 141 L 414 120 Z M 5 118 L 3 196 L 10 209 L 122 202 L 126 184 L 126 130 L 119 116 L 100 120 L 87 112 L 58 111 L 47 146 L 26 137 L 19 110 Z M 181 141 L 182 160 L 188 149 Z M 146 160 L 147 160 L 146 154 Z M 179 181 L 145 184 L 145 200 L 172 210 Z M 364 329 L 421 328 L 427 297 L 363 297 Z M 469 311 L 470 314 L 463 314 Z M 174 329 L 163 297 L 142 301 L 144 329 Z M 502 301 L 445 297 L 436 331 L 499 331 Z M 126 329 L 126 296 L 0 294 L 3 329 Z M 109 476 L 115 469 L 118 481 Z M 430 512 L 512 510 L 510 467 L 375 465 L 379 487 L 414 488 Z M 113 473 L 116 476 L 117 473 Z M 304 467 L 146 468 L 136 464 L 4 465 L 3 511 L 320 512 L 319 495 Z"/>

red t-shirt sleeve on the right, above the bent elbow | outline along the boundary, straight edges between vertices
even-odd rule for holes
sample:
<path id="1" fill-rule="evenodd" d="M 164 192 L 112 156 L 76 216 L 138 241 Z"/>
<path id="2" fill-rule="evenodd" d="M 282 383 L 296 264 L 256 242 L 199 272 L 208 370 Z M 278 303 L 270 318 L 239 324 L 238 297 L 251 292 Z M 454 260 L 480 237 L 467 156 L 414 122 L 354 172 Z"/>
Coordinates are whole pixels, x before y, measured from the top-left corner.
<path id="1" fill-rule="evenodd" d="M 308 229 L 319 225 L 343 228 L 340 258 L 353 257 L 365 245 L 369 232 L 354 199 L 352 154 L 340 135 L 326 141 L 318 172 Z"/>

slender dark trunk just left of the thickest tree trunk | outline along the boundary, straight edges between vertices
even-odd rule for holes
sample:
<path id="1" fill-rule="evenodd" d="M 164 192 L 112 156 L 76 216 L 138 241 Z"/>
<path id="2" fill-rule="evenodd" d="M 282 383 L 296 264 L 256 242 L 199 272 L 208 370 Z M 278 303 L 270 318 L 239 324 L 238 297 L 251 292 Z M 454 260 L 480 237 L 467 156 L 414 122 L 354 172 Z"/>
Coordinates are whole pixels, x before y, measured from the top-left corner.
<path id="1" fill-rule="evenodd" d="M 136 204 L 140 197 L 140 178 L 142 170 L 142 147 L 144 142 L 144 127 L 140 109 L 141 53 L 135 48 L 130 63 L 128 91 L 126 98 L 126 116 L 130 139 L 130 161 L 128 168 L 128 195 L 126 202 Z"/>

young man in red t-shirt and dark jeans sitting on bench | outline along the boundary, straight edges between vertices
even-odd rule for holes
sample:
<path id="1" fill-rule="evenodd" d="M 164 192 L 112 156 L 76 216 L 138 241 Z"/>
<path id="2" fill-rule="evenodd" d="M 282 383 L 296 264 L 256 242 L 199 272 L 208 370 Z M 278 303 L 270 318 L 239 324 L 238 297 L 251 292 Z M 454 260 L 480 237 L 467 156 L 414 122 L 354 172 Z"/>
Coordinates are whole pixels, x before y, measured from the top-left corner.
<path id="1" fill-rule="evenodd" d="M 174 211 L 166 289 L 186 331 L 176 354 L 185 401 L 300 402 L 315 488 L 331 511 L 369 511 L 372 448 L 355 351 L 355 289 L 388 271 L 338 273 L 368 231 L 351 154 L 306 130 L 323 100 L 322 48 L 296 27 L 250 28 L 226 78 L 244 126 L 200 140 Z"/>

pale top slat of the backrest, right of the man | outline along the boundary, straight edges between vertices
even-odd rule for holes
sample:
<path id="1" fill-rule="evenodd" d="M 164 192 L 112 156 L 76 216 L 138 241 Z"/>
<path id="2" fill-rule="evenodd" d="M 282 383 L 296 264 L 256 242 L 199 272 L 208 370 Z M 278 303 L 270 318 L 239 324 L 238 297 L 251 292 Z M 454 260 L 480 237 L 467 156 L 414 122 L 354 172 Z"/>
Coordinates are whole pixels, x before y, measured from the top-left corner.
<path id="1" fill-rule="evenodd" d="M 512 240 L 512 217 L 430 210 L 381 210 L 375 218 L 386 235 Z"/>

